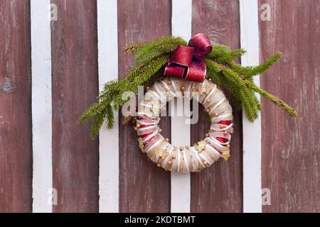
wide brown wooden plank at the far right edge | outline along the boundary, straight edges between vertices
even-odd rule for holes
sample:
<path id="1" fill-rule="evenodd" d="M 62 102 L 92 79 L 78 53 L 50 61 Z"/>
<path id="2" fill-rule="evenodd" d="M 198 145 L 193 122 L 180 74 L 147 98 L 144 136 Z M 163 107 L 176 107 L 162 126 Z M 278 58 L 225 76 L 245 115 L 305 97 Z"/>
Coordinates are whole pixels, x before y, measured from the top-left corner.
<path id="1" fill-rule="evenodd" d="M 320 211 L 320 1 L 260 1 L 271 21 L 260 20 L 261 60 L 284 57 L 262 74 L 263 89 L 297 109 L 290 118 L 262 98 L 262 188 L 271 190 L 264 212 Z"/>

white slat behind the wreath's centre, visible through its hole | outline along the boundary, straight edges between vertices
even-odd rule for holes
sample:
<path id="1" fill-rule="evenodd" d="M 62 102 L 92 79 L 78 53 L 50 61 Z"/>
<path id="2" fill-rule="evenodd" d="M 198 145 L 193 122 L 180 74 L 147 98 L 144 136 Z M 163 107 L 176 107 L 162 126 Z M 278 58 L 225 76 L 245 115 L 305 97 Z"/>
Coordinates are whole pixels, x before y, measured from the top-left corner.
<path id="1" fill-rule="evenodd" d="M 192 0 L 172 0 L 171 31 L 185 40 L 191 38 Z M 189 108 L 190 109 L 190 108 Z M 184 117 L 171 116 L 171 143 L 190 145 L 191 128 Z M 191 179 L 188 173 L 171 172 L 171 212 L 190 212 Z"/>

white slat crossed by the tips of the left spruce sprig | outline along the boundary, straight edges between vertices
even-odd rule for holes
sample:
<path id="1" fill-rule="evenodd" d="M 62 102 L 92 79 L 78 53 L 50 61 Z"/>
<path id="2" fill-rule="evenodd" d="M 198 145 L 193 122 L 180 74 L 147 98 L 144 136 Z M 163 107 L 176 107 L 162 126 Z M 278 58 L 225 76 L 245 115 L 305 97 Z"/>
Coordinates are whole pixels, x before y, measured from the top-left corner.
<path id="1" fill-rule="evenodd" d="M 97 0 L 99 87 L 117 78 L 118 36 L 117 0 Z M 119 126 L 114 113 L 114 128 L 100 130 L 99 211 L 119 212 Z"/>

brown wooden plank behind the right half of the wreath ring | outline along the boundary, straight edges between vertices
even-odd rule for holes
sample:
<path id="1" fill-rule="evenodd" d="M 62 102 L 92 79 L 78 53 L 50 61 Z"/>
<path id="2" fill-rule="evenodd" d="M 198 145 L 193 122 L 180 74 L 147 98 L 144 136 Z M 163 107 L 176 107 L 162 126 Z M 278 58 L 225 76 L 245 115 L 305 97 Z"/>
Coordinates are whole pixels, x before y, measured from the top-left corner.
<path id="1" fill-rule="evenodd" d="M 237 0 L 193 0 L 192 33 L 206 33 L 210 40 L 231 48 L 240 47 L 239 4 Z M 203 107 L 199 121 L 191 126 L 191 144 L 204 138 L 210 130 Z M 231 158 L 219 161 L 200 173 L 191 175 L 192 212 L 242 211 L 242 114 L 233 108 L 235 133 L 231 141 Z"/>

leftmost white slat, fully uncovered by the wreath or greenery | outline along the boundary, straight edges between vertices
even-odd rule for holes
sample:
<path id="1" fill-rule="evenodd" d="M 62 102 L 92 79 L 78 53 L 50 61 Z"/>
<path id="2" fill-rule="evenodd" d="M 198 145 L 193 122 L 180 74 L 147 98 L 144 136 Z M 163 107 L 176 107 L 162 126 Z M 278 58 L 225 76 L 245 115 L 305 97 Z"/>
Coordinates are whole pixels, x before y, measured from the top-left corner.
<path id="1" fill-rule="evenodd" d="M 33 212 L 52 212 L 50 0 L 31 0 Z"/>

